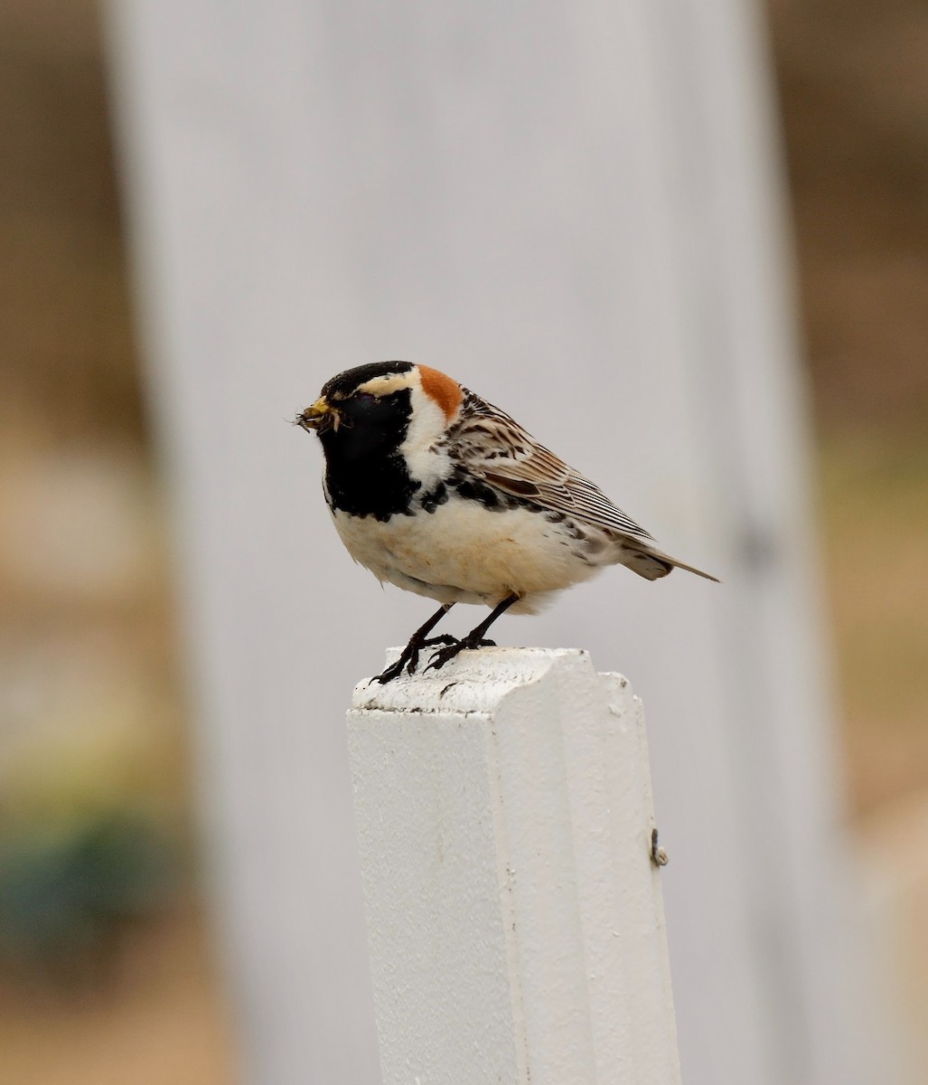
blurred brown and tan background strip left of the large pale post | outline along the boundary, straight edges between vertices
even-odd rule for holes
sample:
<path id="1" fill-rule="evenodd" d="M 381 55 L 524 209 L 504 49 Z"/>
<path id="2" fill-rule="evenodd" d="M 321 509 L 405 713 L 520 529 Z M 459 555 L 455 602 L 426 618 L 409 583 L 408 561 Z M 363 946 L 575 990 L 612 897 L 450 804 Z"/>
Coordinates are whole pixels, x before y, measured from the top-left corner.
<path id="1" fill-rule="evenodd" d="M 74 870 L 125 812 L 172 842 L 171 870 L 115 917 L 63 898 L 86 944 L 38 923 L 3 955 L 0 1081 L 225 1085 L 96 20 L 90 0 L 0 8 L 0 832 L 35 845 L 27 894 L 125 866 L 98 850 Z M 62 842 L 70 867 L 49 872 Z M 151 835 L 130 847 L 133 871 L 160 861 Z"/>

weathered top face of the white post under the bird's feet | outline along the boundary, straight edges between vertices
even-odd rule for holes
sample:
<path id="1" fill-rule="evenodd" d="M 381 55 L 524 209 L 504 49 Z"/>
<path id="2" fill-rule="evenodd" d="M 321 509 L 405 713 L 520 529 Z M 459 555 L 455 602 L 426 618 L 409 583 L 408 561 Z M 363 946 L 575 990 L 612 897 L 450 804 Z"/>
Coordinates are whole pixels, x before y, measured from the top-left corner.
<path id="1" fill-rule="evenodd" d="M 387 665 L 400 652 L 388 649 Z M 532 685 L 555 668 L 595 676 L 590 653 L 581 648 L 480 648 L 462 652 L 440 671 L 425 671 L 425 662 L 415 674 L 401 675 L 384 686 L 365 678 L 355 687 L 352 710 L 492 712 L 514 688 Z"/>

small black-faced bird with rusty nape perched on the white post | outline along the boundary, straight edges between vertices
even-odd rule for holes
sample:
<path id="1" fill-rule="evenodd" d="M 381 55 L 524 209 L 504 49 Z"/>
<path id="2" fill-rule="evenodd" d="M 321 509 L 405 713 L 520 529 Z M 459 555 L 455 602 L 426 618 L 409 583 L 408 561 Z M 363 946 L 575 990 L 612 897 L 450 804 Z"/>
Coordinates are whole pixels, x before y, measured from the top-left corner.
<path id="1" fill-rule="evenodd" d="M 533 614 L 607 565 L 648 580 L 684 569 L 589 478 L 513 418 L 429 366 L 383 361 L 327 381 L 294 423 L 315 433 L 323 492 L 349 554 L 439 610 L 375 678 L 440 669 L 493 644 L 505 611 Z M 466 636 L 429 637 L 456 603 L 490 608 Z"/>

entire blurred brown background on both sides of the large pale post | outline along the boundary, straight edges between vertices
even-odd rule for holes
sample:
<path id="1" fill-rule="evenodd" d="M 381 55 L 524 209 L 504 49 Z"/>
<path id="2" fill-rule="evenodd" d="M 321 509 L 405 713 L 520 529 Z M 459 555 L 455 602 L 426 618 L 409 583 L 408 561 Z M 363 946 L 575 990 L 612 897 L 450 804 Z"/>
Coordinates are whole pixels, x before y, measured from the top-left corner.
<path id="1" fill-rule="evenodd" d="M 928 8 L 765 14 L 847 819 L 928 1080 Z M 100 17 L 0 8 L 0 1081 L 219 1085 Z"/>

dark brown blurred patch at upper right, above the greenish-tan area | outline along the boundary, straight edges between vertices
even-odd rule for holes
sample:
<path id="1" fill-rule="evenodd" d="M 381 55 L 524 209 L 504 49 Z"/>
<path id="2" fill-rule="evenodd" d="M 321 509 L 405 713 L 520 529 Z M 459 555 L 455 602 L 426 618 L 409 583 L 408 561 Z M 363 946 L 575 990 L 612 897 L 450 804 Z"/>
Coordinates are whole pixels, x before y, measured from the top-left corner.
<path id="1" fill-rule="evenodd" d="M 928 8 L 770 0 L 826 438 L 928 419 Z"/>

